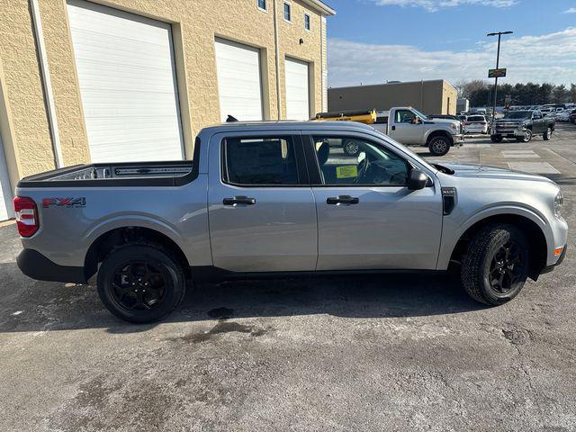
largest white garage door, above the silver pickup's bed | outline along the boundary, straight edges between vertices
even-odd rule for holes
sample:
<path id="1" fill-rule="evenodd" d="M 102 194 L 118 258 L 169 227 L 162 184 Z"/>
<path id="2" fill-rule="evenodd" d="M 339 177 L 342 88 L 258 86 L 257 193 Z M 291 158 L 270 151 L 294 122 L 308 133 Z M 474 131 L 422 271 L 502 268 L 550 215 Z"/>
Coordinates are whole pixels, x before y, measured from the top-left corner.
<path id="1" fill-rule="evenodd" d="M 67 12 L 92 161 L 182 159 L 170 24 L 84 0 Z"/>

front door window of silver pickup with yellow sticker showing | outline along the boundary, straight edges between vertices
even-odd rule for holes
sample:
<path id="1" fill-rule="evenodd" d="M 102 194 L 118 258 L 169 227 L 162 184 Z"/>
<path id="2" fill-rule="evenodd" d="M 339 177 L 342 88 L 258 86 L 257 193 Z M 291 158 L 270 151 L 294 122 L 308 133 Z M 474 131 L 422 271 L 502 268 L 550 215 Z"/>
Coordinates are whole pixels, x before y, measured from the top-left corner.
<path id="1" fill-rule="evenodd" d="M 325 185 L 404 186 L 410 166 L 387 148 L 355 137 L 313 137 Z"/>

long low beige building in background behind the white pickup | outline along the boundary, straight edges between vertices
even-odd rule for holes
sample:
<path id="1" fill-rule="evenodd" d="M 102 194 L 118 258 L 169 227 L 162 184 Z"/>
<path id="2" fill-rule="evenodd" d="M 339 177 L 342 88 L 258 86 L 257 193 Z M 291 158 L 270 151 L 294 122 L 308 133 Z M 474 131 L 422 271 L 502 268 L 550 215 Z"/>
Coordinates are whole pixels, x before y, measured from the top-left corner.
<path id="1" fill-rule="evenodd" d="M 329 88 L 329 111 L 387 111 L 394 106 L 412 106 L 425 114 L 455 114 L 458 92 L 439 79 L 379 85 Z"/>

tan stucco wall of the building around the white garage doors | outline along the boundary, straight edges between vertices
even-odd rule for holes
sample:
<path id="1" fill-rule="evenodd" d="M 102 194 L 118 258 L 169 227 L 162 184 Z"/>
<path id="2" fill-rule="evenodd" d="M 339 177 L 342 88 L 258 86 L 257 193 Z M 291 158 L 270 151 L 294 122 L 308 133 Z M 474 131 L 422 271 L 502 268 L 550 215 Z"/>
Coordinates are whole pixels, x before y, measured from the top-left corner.
<path id="1" fill-rule="evenodd" d="M 214 37 L 235 40 L 261 49 L 266 118 L 277 118 L 274 5 L 268 13 L 256 0 L 108 0 L 94 3 L 141 14 L 173 24 L 176 70 L 183 115 L 186 155 L 202 127 L 220 121 Z M 39 0 L 43 35 L 54 95 L 59 139 L 66 166 L 90 161 L 82 103 L 65 0 Z M 320 13 L 292 0 L 293 23 L 284 22 L 284 6 L 277 0 L 280 40 L 281 112 L 284 118 L 284 58 L 311 64 L 311 112 L 321 111 Z M 311 31 L 304 30 L 304 9 L 311 14 Z M 299 40 L 302 38 L 303 44 Z M 0 0 L 0 58 L 4 63 L 5 104 L 12 112 L 14 147 L 20 155 L 19 175 L 54 167 L 39 60 L 27 0 Z"/>

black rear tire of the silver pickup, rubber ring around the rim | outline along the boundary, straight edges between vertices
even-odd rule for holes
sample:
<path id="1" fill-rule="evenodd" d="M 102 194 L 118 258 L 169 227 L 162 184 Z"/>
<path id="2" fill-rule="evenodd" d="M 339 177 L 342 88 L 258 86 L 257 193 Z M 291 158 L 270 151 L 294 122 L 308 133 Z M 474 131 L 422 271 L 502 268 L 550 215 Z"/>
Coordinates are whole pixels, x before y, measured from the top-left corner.
<path id="1" fill-rule="evenodd" d="M 166 279 L 166 298 L 152 310 L 128 310 L 122 308 L 112 296 L 112 278 L 115 272 L 129 262 L 142 261 L 159 267 Z M 175 259 L 160 248 L 144 245 L 130 245 L 113 251 L 103 260 L 98 270 L 98 294 L 116 317 L 134 323 L 146 323 L 161 320 L 174 311 L 184 298 L 185 280 L 182 268 Z"/>

